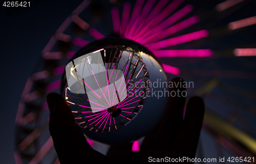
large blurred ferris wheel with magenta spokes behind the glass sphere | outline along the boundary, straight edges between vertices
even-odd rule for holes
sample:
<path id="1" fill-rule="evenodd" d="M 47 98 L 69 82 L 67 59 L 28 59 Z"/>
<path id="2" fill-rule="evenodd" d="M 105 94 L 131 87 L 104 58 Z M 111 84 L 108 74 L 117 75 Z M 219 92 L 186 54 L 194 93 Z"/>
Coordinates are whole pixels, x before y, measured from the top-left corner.
<path id="1" fill-rule="evenodd" d="M 164 63 L 163 68 L 166 73 L 173 75 L 181 74 L 185 80 L 194 81 L 195 87 L 200 89 L 191 89 L 191 91 L 205 98 L 208 111 L 205 116 L 203 134 L 205 132 L 211 134 L 211 138 L 214 138 L 215 142 L 219 143 L 221 149 L 225 148 L 236 156 L 255 156 L 256 142 L 253 139 L 253 137 L 256 137 L 256 134 L 253 133 L 255 129 L 248 126 L 248 124 L 253 125 L 253 121 L 244 121 L 244 115 L 248 113 L 255 118 L 255 112 L 252 110 L 252 108 L 255 108 L 255 103 L 253 103 L 255 92 L 247 91 L 248 89 L 246 88 L 237 87 L 236 84 L 231 85 L 229 82 L 222 80 L 226 76 L 235 79 L 241 77 L 253 79 L 255 74 L 248 73 L 246 72 L 247 70 L 244 72 L 230 72 L 205 70 L 200 67 L 201 61 L 232 54 L 234 49 L 236 56 L 256 55 L 255 49 L 251 49 L 253 46 L 255 48 L 255 43 L 251 39 L 247 39 L 243 44 L 237 45 L 236 43 L 231 45 L 232 48 L 229 48 L 225 43 L 220 43 L 222 36 L 225 40 L 227 39 L 226 35 L 234 36 L 236 35 L 235 32 L 243 33 L 243 28 L 255 24 L 256 13 L 252 12 L 255 2 L 249 0 L 212 1 L 204 4 L 201 1 L 195 1 L 191 2 L 195 4 L 188 5 L 186 1 L 182 0 L 138 0 L 136 3 L 121 3 L 119 1 L 102 3 L 105 4 L 83 1 L 57 29 L 56 34 L 52 36 L 42 51 L 42 57 L 34 68 L 33 74 L 28 78 L 17 111 L 16 163 L 58 163 L 52 139 L 48 133 L 49 111 L 45 96 L 48 92 L 59 89 L 61 74 L 68 60 L 82 46 L 89 43 L 87 40 L 93 40 L 93 38 L 101 39 L 105 36 L 113 35 L 132 39 L 146 46 Z M 111 3 L 115 5 L 111 5 Z M 131 4 L 135 4 L 133 9 Z M 107 6 L 105 7 L 106 10 L 103 10 L 103 6 Z M 93 9 L 93 11 L 89 9 Z M 90 11 L 92 17 L 89 18 Z M 122 12 L 119 14 L 119 11 Z M 236 15 L 239 11 L 247 13 L 246 15 L 248 16 L 238 16 L 240 18 L 229 17 L 230 20 L 224 19 L 229 15 Z M 216 21 L 221 21 L 221 26 L 215 25 Z M 109 28 L 112 27 L 112 23 L 114 31 L 112 28 Z M 214 29 L 211 30 L 212 28 Z M 248 27 L 247 31 L 251 31 L 251 35 L 255 36 L 255 32 L 253 33 L 250 28 Z M 105 34 L 105 36 L 102 34 Z M 216 48 L 217 46 L 225 51 L 220 51 Z M 215 51 L 212 52 L 212 50 Z M 133 55 L 133 57 L 135 60 L 138 59 L 136 55 Z M 182 60 L 180 58 L 171 58 L 172 61 L 175 61 L 174 63 L 170 61 L 170 57 L 202 58 L 189 60 L 185 58 L 182 58 Z M 233 58 L 235 57 L 230 58 L 230 60 L 233 60 Z M 131 62 L 135 60 L 131 60 Z M 197 69 L 187 66 L 193 64 L 193 62 L 198 63 Z M 180 65 L 180 69 L 171 66 L 170 63 Z M 140 68 L 143 66 L 143 63 L 138 62 L 136 64 Z M 255 68 L 254 65 L 249 66 L 249 64 L 245 66 L 249 71 Z M 144 74 L 146 70 L 142 68 L 142 71 L 145 72 L 141 72 L 141 77 L 146 78 Z M 168 77 L 172 78 L 171 75 L 168 75 Z M 209 78 L 200 79 L 199 77 Z M 239 93 L 239 96 L 249 97 L 249 99 L 233 102 L 233 95 L 230 90 Z M 223 98 L 220 99 L 220 97 Z M 70 97 L 68 99 L 70 100 Z M 134 99 L 134 101 L 137 100 Z M 138 99 L 136 102 L 138 106 L 143 105 L 143 102 L 139 104 L 140 101 Z M 220 105 L 212 103 L 216 101 Z M 245 104 L 242 101 L 247 103 Z M 221 109 L 223 106 L 228 106 L 229 112 L 215 109 Z M 241 108 L 244 106 L 247 108 L 246 111 Z M 136 106 L 128 107 L 133 107 L 134 110 Z M 126 111 L 124 112 L 126 115 L 123 116 L 128 119 L 130 118 L 129 114 L 131 114 L 129 112 L 132 112 L 132 114 L 137 113 L 136 111 L 129 110 L 129 108 L 124 111 Z M 122 120 L 119 117 L 122 116 L 118 115 L 119 122 L 121 122 Z M 236 122 L 234 120 L 239 121 Z M 125 121 L 129 120 L 126 119 Z M 121 125 L 119 124 L 119 126 Z M 244 128 L 246 129 L 244 130 Z M 94 148 L 98 147 L 100 149 L 100 144 L 97 145 L 97 143 L 93 143 L 91 140 L 88 141 L 90 144 L 94 144 Z M 203 156 L 203 153 L 200 153 L 200 151 L 204 150 L 202 143 L 203 138 L 201 139 L 201 145 L 199 145 L 199 156 Z"/>

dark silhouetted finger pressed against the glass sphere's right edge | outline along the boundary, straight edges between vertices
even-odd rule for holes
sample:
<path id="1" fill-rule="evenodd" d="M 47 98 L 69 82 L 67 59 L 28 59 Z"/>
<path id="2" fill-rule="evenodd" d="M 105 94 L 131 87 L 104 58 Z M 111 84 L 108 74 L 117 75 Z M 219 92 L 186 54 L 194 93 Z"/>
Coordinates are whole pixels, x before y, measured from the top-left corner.
<path id="1" fill-rule="evenodd" d="M 184 80 L 175 78 L 170 84 L 173 84 L 173 87 L 169 88 L 168 105 L 156 133 L 156 149 L 172 149 L 176 135 L 180 131 L 183 122 L 183 110 L 186 101 Z"/>

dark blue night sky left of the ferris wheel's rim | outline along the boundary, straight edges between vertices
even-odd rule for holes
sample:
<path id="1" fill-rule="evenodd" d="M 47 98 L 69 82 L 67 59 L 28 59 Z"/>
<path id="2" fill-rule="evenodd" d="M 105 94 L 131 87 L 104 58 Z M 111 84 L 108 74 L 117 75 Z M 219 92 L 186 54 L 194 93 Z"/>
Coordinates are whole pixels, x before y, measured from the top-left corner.
<path id="1" fill-rule="evenodd" d="M 8 17 L 1 2 L 0 163 L 15 163 L 14 121 L 27 78 L 51 36 L 81 2 L 44 0 Z"/>

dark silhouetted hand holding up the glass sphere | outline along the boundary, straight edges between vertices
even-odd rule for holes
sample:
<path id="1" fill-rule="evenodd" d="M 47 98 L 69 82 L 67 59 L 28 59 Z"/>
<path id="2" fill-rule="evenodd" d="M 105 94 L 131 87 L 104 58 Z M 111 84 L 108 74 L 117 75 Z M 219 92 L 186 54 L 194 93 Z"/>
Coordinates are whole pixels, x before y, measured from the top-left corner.
<path id="1" fill-rule="evenodd" d="M 173 82 L 180 82 L 175 78 Z M 185 90 L 185 88 L 170 88 Z M 132 144 L 111 146 L 108 154 L 93 150 L 74 121 L 66 101 L 57 93 L 47 95 L 50 110 L 49 131 L 61 164 L 66 163 L 126 163 L 148 162 L 148 157 L 194 158 L 204 116 L 204 101 L 200 97 L 189 99 L 185 118 L 186 98 L 169 97 L 163 118 L 148 133 L 139 152 L 132 152 Z"/>

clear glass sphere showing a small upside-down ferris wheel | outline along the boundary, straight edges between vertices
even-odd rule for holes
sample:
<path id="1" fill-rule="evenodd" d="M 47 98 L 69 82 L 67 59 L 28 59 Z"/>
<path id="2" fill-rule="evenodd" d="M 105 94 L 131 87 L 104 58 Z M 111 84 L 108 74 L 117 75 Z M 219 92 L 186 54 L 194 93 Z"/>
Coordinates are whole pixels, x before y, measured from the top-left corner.
<path id="1" fill-rule="evenodd" d="M 104 144 L 139 139 L 159 122 L 167 98 L 166 75 L 153 53 L 124 38 L 90 42 L 74 54 L 61 78 L 61 93 L 76 123 L 89 138 Z"/>

